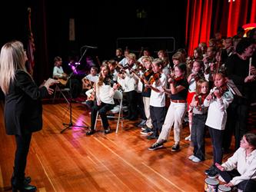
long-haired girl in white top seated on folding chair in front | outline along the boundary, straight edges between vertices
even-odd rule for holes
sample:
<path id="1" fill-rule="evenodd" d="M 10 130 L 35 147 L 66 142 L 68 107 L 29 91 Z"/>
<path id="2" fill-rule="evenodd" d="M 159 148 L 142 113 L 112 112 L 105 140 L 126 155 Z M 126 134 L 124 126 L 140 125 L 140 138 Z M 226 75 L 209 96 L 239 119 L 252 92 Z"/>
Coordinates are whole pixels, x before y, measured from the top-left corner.
<path id="1" fill-rule="evenodd" d="M 95 83 L 96 102 L 91 108 L 91 130 L 88 131 L 86 135 L 95 133 L 95 120 L 97 112 L 101 116 L 105 134 L 109 134 L 111 132 L 106 113 L 114 108 L 114 94 L 117 89 L 117 84 L 114 84 L 113 87 L 111 87 L 111 78 L 109 78 L 108 65 L 102 64 L 98 81 Z"/>

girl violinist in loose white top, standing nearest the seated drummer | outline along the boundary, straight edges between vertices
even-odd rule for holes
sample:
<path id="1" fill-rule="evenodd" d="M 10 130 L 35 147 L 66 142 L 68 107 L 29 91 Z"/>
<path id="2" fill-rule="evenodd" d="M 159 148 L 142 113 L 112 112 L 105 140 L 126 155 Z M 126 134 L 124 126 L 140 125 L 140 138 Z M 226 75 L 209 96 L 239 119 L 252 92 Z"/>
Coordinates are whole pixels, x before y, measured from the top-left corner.
<path id="1" fill-rule="evenodd" d="M 214 75 L 214 88 L 211 89 L 210 94 L 204 100 L 204 106 L 208 108 L 208 117 L 206 125 L 208 126 L 211 135 L 211 143 L 213 147 L 213 165 L 205 170 L 208 177 L 217 177 L 218 172 L 215 163 L 222 163 L 222 141 L 224 135 L 224 128 L 227 121 L 227 108 L 233 101 L 233 94 L 227 87 L 228 78 L 225 77 L 224 71 L 218 72 Z"/>

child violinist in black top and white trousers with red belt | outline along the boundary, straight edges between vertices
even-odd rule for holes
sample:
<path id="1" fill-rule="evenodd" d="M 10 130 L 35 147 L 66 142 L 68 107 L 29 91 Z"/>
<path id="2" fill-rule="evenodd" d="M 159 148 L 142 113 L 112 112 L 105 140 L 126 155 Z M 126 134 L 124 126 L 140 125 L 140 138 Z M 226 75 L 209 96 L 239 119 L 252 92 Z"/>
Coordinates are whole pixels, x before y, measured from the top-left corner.
<path id="1" fill-rule="evenodd" d="M 163 144 L 168 140 L 171 127 L 174 124 L 175 144 L 171 147 L 171 151 L 180 149 L 179 142 L 181 140 L 182 120 L 187 108 L 188 81 L 185 78 L 187 67 L 185 63 L 175 66 L 175 78 L 169 78 L 171 89 L 165 89 L 165 92 L 171 94 L 171 104 L 165 117 L 165 123 L 161 128 L 161 134 L 158 141 L 152 144 L 148 150 L 155 150 L 163 147 Z"/>

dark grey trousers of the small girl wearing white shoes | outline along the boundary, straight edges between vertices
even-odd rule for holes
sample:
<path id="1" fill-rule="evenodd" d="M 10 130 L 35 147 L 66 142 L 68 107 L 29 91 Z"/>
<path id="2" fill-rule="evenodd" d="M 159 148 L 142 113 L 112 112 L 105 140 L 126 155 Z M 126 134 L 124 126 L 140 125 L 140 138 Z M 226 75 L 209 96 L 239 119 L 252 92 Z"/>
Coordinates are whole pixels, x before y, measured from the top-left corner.
<path id="1" fill-rule="evenodd" d="M 207 114 L 193 114 L 192 127 L 191 127 L 191 141 L 194 145 L 194 156 L 204 160 L 205 155 L 205 121 Z"/>

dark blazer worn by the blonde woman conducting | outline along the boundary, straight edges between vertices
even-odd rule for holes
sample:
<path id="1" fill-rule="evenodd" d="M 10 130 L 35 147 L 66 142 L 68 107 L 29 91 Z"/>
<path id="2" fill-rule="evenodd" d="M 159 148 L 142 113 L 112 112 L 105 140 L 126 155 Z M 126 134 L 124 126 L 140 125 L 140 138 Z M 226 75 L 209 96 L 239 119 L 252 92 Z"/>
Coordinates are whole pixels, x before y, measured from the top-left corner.
<path id="1" fill-rule="evenodd" d="M 42 101 L 47 88 L 38 88 L 31 76 L 18 70 L 5 95 L 5 129 L 7 134 L 28 134 L 42 129 Z"/>

